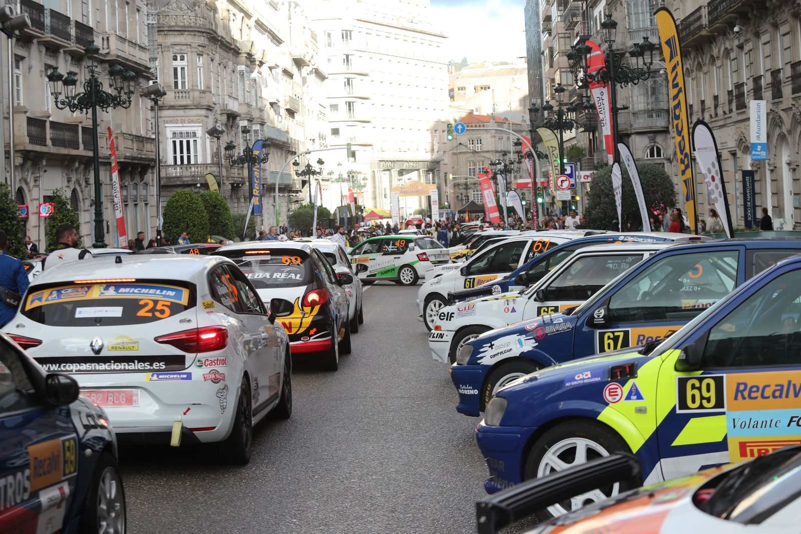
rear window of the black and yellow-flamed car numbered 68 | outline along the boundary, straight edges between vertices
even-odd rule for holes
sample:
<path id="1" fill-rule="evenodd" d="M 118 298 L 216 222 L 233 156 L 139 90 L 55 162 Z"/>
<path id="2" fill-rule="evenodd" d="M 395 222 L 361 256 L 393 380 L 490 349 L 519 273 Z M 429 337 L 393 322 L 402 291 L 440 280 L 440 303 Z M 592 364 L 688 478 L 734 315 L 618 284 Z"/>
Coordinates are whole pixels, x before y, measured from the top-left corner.
<path id="1" fill-rule="evenodd" d="M 304 250 L 232 250 L 220 255 L 235 261 L 256 289 L 312 283 L 313 268 Z"/>

